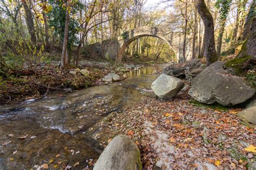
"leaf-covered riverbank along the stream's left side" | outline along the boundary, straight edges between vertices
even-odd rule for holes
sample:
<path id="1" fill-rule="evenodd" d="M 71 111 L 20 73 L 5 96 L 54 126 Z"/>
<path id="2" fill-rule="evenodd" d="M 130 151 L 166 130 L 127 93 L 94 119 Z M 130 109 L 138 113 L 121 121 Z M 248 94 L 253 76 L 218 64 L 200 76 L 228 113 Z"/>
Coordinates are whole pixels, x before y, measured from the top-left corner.
<path id="1" fill-rule="evenodd" d="M 138 67 L 139 66 L 139 67 Z M 0 76 L 0 104 L 37 100 L 53 91 L 71 91 L 104 84 L 102 78 L 110 72 L 127 72 L 143 65 L 80 61 L 80 66 L 60 70 L 58 62 L 31 65 L 22 70 L 10 70 Z M 84 72 L 84 73 L 82 73 Z M 122 77 L 123 78 L 123 77 Z"/>

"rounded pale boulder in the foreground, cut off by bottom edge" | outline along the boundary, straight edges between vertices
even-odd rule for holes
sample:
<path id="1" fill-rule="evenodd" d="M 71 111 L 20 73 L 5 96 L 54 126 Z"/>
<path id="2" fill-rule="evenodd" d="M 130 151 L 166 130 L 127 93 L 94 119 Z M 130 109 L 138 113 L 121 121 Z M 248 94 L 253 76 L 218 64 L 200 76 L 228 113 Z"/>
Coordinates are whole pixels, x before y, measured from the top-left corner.
<path id="1" fill-rule="evenodd" d="M 139 148 L 124 135 L 115 137 L 105 148 L 93 170 L 142 169 Z"/>

